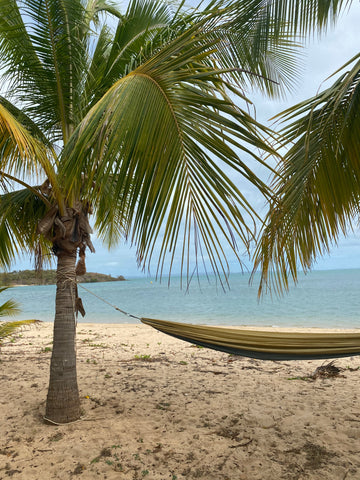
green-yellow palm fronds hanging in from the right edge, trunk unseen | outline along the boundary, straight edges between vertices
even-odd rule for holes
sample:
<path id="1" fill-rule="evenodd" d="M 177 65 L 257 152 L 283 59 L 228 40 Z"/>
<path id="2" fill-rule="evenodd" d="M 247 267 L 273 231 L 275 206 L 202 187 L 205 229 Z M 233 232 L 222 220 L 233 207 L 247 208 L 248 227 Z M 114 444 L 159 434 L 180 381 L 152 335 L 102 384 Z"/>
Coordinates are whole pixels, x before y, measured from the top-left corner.
<path id="1" fill-rule="evenodd" d="M 299 266 L 308 271 L 358 224 L 360 54 L 334 75 L 331 86 L 279 115 L 282 142 L 291 148 L 279 163 L 255 255 L 260 293 L 286 290 Z"/>

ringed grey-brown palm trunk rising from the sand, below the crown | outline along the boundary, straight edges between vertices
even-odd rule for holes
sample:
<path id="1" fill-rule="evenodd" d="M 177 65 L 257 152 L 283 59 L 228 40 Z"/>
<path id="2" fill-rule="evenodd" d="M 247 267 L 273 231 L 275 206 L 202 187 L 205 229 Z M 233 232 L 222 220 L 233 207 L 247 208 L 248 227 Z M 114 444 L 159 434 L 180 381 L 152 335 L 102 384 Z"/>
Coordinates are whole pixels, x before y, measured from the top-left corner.
<path id="1" fill-rule="evenodd" d="M 57 424 L 78 420 L 81 414 L 76 375 L 75 262 L 76 250 L 58 254 L 54 342 L 45 414 L 45 420 Z"/>

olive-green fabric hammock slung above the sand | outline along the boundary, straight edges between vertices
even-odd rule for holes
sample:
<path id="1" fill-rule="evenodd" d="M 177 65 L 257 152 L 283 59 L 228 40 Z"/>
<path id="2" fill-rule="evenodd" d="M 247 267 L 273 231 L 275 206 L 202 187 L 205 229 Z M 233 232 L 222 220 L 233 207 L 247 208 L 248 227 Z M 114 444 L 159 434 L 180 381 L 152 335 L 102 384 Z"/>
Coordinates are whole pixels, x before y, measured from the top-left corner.
<path id="1" fill-rule="evenodd" d="M 262 360 L 313 360 L 360 355 L 358 333 L 270 332 L 141 318 L 160 332 L 202 347 Z"/>

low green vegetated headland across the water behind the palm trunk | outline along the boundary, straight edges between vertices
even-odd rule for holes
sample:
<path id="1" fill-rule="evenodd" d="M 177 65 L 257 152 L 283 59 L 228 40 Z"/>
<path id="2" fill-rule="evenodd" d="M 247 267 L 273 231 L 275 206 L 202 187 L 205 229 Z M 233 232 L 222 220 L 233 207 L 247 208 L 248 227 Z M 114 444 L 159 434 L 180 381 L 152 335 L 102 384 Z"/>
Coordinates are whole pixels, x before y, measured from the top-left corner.
<path id="1" fill-rule="evenodd" d="M 95 282 L 118 282 L 124 281 L 122 275 L 112 277 L 104 273 L 87 272 L 79 277 L 81 283 L 95 283 Z M 19 270 L 13 272 L 0 273 L 0 285 L 55 285 L 56 284 L 56 270 L 42 270 L 36 272 L 35 270 Z"/>

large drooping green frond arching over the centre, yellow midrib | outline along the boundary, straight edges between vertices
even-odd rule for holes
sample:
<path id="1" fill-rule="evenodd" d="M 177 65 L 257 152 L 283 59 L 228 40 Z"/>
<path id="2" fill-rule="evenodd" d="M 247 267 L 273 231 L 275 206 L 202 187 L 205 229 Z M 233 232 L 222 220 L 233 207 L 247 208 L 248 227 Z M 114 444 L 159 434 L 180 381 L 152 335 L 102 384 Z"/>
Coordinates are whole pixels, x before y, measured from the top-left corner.
<path id="1" fill-rule="evenodd" d="M 82 189 L 95 204 L 112 184 L 117 222 L 137 244 L 141 265 L 164 227 L 159 271 L 179 237 L 183 244 L 195 239 L 196 253 L 202 250 L 216 272 L 227 269 L 223 242 L 236 251 L 235 234 L 248 247 L 256 212 L 222 166 L 269 195 L 234 151 L 263 163 L 251 148 L 273 153 L 261 136 L 266 129 L 225 95 L 221 74 L 203 61 L 211 46 L 197 32 L 190 29 L 115 83 L 85 117 L 60 166 L 66 189 Z M 81 172 L 87 175 L 79 182 Z M 181 256 L 184 262 L 187 253 Z"/>

